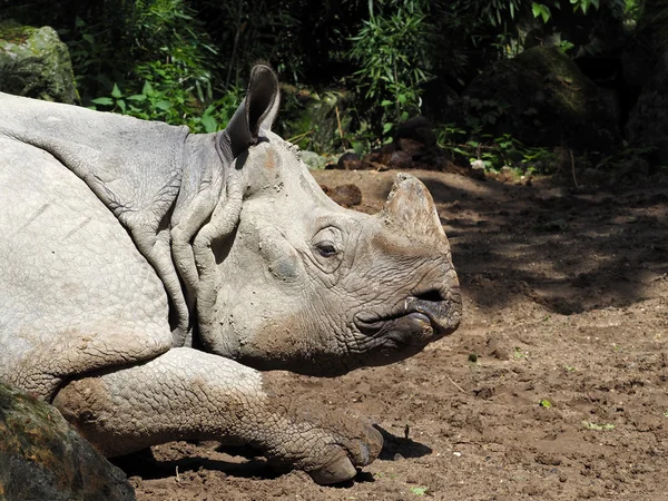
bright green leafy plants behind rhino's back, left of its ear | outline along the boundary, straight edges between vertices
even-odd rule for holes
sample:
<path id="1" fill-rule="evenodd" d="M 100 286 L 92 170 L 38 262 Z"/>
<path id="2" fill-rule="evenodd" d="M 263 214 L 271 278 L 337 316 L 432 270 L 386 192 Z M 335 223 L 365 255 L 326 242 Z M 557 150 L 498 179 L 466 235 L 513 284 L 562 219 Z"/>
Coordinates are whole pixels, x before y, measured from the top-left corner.
<path id="1" fill-rule="evenodd" d="M 124 72 L 98 77 L 108 94 L 90 99 L 90 104 L 137 118 L 187 125 L 193 131 L 214 131 L 224 126 L 229 108 L 240 101 L 239 92 L 232 89 L 214 99 L 217 49 L 202 32 L 195 14 L 184 0 L 136 1 L 126 18 L 127 33 L 135 39 L 127 48 L 132 63 L 125 63 Z M 78 26 L 85 31 L 90 29 L 84 21 Z M 95 36 L 84 32 L 81 40 L 77 57 L 99 60 Z M 88 56 L 86 49 L 91 51 Z"/>

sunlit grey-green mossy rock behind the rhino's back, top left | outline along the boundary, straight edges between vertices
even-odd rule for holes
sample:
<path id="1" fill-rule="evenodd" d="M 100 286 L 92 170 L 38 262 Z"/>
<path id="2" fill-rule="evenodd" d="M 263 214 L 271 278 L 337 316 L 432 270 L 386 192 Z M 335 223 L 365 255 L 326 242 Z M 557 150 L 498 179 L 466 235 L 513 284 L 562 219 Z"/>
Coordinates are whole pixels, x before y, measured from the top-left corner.
<path id="1" fill-rule="evenodd" d="M 79 104 L 69 51 L 56 30 L 0 23 L 0 91 Z"/>

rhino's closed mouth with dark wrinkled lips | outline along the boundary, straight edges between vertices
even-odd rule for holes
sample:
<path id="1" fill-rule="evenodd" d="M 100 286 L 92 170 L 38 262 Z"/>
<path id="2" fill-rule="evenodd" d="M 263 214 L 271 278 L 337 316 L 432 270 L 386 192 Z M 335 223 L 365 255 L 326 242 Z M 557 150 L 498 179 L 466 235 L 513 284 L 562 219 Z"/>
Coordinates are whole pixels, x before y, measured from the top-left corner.
<path id="1" fill-rule="evenodd" d="M 459 310 L 450 301 L 406 297 L 387 315 L 358 313 L 357 330 L 365 336 L 399 345 L 423 346 L 452 334 L 459 326 Z"/>

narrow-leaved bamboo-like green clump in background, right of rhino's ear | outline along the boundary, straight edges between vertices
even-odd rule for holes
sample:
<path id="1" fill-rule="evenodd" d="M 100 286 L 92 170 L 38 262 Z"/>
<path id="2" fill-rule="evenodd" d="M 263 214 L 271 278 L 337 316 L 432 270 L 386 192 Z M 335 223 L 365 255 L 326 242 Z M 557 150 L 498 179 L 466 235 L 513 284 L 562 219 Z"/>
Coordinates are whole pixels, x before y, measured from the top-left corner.
<path id="1" fill-rule="evenodd" d="M 420 86 L 428 80 L 428 3 L 422 0 L 384 0 L 353 37 L 351 58 L 364 99 L 380 105 L 382 135 L 387 139 L 394 126 L 420 109 Z"/>

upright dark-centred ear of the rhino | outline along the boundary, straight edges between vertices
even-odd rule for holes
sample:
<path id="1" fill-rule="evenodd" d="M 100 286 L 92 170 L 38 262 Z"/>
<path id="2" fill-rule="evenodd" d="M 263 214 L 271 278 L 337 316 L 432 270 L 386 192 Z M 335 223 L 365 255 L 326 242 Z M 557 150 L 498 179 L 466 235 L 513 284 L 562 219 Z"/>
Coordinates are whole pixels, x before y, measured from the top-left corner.
<path id="1" fill-rule="evenodd" d="M 257 65 L 250 70 L 248 94 L 229 120 L 227 135 L 234 157 L 257 144 L 259 129 L 271 130 L 278 104 L 278 79 L 272 68 Z"/>

